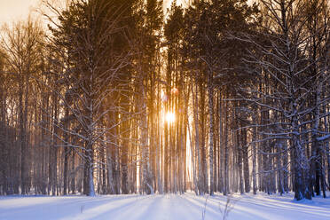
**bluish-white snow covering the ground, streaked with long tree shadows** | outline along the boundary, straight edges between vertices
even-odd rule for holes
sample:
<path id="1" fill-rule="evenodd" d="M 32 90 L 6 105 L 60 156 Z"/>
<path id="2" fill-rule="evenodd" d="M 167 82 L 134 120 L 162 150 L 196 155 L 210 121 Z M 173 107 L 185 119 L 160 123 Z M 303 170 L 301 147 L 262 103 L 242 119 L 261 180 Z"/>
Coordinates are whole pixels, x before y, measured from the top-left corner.
<path id="1" fill-rule="evenodd" d="M 295 201 L 293 194 L 233 195 L 234 208 L 227 219 L 330 219 L 330 198 Z M 201 220 L 223 219 L 226 197 L 167 195 L 8 196 L 0 197 L 0 219 L 60 220 Z M 233 204 L 232 203 L 232 204 Z M 206 208 L 205 208 L 206 207 Z"/>

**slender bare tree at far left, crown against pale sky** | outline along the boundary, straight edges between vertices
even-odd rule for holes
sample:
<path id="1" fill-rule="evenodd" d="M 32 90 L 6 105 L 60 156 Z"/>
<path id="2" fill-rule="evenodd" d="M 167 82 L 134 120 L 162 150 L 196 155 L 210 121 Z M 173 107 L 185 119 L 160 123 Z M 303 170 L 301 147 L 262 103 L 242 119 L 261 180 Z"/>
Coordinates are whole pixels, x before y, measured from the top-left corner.
<path id="1" fill-rule="evenodd" d="M 43 32 L 40 24 L 28 18 L 27 22 L 13 23 L 12 27 L 4 27 L 1 46 L 7 71 L 18 85 L 18 116 L 20 132 L 20 190 L 22 194 L 29 191 L 29 165 L 27 161 L 28 138 L 28 107 L 30 83 L 40 59 L 37 49 L 42 42 Z"/>

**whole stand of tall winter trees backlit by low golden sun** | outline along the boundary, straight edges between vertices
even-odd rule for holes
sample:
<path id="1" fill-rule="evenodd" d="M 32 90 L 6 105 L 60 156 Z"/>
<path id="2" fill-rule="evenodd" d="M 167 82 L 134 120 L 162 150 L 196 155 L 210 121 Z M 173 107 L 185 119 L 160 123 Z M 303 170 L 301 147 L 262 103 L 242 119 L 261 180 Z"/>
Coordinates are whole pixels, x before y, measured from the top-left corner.
<path id="1" fill-rule="evenodd" d="M 0 195 L 326 198 L 329 0 L 43 0 L 0 30 Z"/>

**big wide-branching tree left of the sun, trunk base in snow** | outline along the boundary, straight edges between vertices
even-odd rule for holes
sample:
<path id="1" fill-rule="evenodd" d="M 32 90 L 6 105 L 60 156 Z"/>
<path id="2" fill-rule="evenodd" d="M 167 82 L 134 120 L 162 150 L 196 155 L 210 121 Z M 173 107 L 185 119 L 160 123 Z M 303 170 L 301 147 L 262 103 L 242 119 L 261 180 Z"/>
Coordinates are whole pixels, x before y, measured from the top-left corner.
<path id="1" fill-rule="evenodd" d="M 55 119 L 55 126 L 65 134 L 79 138 L 81 145 L 68 143 L 67 138 L 57 138 L 66 147 L 83 151 L 84 193 L 91 196 L 95 194 L 94 169 L 99 163 L 95 161 L 95 154 L 106 145 L 106 133 L 117 126 L 102 124 L 105 115 L 115 110 L 113 106 L 105 106 L 105 100 L 117 90 L 120 71 L 128 65 L 128 53 L 113 49 L 115 37 L 122 31 L 119 20 L 120 13 L 113 2 L 74 1 L 67 11 L 60 12 L 57 28 L 51 27 L 55 36 L 53 46 L 61 50 L 60 58 L 64 61 L 60 63 L 63 71 L 56 74 L 67 84 L 65 95 L 57 88 L 52 89 L 80 129 L 67 128 L 65 120 L 63 123 Z M 69 102 L 69 99 L 73 101 Z"/>

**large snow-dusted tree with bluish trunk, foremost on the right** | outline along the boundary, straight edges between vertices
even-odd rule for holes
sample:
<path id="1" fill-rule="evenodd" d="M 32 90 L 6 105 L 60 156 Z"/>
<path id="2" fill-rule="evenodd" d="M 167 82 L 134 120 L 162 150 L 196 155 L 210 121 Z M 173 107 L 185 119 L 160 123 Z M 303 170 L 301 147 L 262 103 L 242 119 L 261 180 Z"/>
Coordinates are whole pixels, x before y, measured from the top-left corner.
<path id="1" fill-rule="evenodd" d="M 311 66 L 306 62 L 306 45 L 311 38 L 304 35 L 307 19 L 301 14 L 303 2 L 261 1 L 261 5 L 265 20 L 259 39 L 263 42 L 250 35 L 245 35 L 243 41 L 255 45 L 258 54 L 251 52 L 246 61 L 259 67 L 259 75 L 266 84 L 263 90 L 249 89 L 254 96 L 247 100 L 267 111 L 268 117 L 262 115 L 268 122 L 263 122 L 261 141 L 276 141 L 281 153 L 287 153 L 287 149 L 280 144 L 280 139 L 290 145 L 295 199 L 310 199 L 306 182 L 309 163 L 304 144 L 308 142 L 304 135 L 309 131 L 303 130 L 303 126 L 309 123 L 307 115 L 313 111 L 306 106 L 306 100 L 310 98 L 311 85 L 316 78 L 307 71 Z M 263 154 L 271 160 L 269 150 Z"/>

